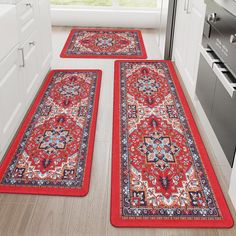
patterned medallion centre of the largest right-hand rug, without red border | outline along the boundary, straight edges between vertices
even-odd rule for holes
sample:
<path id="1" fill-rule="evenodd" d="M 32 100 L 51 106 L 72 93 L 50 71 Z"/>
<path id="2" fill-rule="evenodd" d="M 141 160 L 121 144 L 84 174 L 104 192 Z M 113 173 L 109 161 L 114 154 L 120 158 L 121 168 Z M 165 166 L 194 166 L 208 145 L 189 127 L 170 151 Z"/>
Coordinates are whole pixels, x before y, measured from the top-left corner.
<path id="1" fill-rule="evenodd" d="M 124 219 L 221 219 L 168 66 L 120 62 Z"/>

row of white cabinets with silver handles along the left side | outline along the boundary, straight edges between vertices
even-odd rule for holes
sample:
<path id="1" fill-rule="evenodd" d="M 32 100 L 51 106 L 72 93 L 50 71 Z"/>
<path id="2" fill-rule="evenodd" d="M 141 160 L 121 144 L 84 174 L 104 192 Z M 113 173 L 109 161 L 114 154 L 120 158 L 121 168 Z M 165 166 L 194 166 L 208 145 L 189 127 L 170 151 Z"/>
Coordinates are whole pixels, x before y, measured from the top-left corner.
<path id="1" fill-rule="evenodd" d="M 0 159 L 48 73 L 52 56 L 49 1 L 4 0 L 4 4 L 15 8 L 16 40 L 0 59 Z M 11 20 L 3 26 L 6 34 L 7 22 Z"/>

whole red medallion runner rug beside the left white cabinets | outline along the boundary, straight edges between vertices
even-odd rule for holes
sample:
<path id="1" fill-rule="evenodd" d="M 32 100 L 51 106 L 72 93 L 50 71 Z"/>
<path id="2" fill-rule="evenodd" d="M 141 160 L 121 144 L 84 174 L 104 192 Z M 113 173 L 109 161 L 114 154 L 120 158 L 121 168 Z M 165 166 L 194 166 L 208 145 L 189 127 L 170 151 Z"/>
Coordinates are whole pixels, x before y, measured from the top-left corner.
<path id="1" fill-rule="evenodd" d="M 98 70 L 54 70 L 0 166 L 0 192 L 88 193 L 101 83 Z"/>

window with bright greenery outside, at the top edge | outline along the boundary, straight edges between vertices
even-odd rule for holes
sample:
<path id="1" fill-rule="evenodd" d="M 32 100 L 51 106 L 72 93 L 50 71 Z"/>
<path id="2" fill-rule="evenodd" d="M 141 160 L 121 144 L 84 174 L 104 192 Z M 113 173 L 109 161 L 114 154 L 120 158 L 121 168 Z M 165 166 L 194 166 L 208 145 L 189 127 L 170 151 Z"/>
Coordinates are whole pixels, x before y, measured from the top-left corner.
<path id="1" fill-rule="evenodd" d="M 157 8 L 159 0 L 50 0 L 53 5 L 112 8 Z"/>

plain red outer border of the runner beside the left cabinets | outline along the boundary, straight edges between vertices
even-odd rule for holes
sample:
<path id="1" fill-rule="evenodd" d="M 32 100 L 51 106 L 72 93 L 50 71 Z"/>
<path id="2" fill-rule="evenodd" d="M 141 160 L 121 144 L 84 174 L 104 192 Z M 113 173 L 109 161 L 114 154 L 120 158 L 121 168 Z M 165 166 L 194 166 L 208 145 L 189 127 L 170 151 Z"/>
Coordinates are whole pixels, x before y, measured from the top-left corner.
<path id="1" fill-rule="evenodd" d="M 93 149 L 94 149 L 94 141 L 95 141 L 95 133 L 96 133 L 96 121 L 97 121 L 97 113 L 98 113 L 98 104 L 99 104 L 99 95 L 100 95 L 100 88 L 101 88 L 101 79 L 102 79 L 102 71 L 101 70 L 92 70 L 92 69 L 55 69 L 51 70 L 46 79 L 44 80 L 42 86 L 40 87 L 37 95 L 35 96 L 34 101 L 31 104 L 28 112 L 25 115 L 15 137 L 13 138 L 9 148 L 1 161 L 0 166 L 0 180 L 2 180 L 6 169 L 8 168 L 10 161 L 12 160 L 12 155 L 15 152 L 15 148 L 18 146 L 22 135 L 24 134 L 25 129 L 27 128 L 32 116 L 34 115 L 42 96 L 44 95 L 52 76 L 56 72 L 97 72 L 98 80 L 97 80 L 97 88 L 95 92 L 95 99 L 94 99 L 94 108 L 93 108 L 93 118 L 91 121 L 91 129 L 89 134 L 89 142 L 88 142 L 88 153 L 87 153 L 87 160 L 85 165 L 85 172 L 84 172 L 84 181 L 82 188 L 63 188 L 63 187 L 28 187 L 28 186 L 6 186 L 0 185 L 0 193 L 14 193 L 14 194 L 38 194 L 38 195 L 56 195 L 56 196 L 77 196 L 83 197 L 86 196 L 89 192 L 89 185 L 90 185 L 90 175 L 91 175 L 91 168 L 92 168 L 92 157 L 93 157 Z"/>

